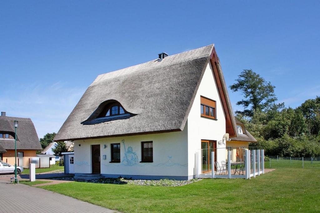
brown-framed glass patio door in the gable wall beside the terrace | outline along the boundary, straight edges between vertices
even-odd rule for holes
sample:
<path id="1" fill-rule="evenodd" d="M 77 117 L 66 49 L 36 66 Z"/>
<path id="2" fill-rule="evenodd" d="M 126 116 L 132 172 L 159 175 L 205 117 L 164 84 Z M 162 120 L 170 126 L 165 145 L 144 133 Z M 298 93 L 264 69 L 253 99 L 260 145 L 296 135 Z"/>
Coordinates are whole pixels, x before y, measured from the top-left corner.
<path id="1" fill-rule="evenodd" d="M 215 140 L 201 140 L 201 154 L 202 154 L 202 173 L 212 171 L 212 156 L 214 152 L 214 160 L 217 159 L 217 141 Z M 216 170 L 214 166 L 214 170 Z"/>

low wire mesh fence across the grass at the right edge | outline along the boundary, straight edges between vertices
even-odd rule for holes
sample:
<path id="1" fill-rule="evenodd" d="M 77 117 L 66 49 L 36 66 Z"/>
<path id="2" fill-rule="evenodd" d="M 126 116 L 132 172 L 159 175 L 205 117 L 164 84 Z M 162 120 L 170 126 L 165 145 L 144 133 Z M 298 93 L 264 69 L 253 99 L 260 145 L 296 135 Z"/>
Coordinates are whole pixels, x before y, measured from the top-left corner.
<path id="1" fill-rule="evenodd" d="M 270 157 L 265 168 L 319 168 L 320 157 Z"/>

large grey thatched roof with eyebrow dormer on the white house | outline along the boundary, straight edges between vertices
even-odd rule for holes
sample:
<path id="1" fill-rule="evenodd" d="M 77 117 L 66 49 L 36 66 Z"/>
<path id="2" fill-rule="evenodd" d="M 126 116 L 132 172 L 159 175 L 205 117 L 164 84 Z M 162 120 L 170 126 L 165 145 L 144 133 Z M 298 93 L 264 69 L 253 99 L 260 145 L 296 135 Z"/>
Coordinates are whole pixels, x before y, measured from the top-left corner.
<path id="1" fill-rule="evenodd" d="M 54 141 L 182 131 L 208 63 L 219 63 L 214 45 L 155 59 L 99 75 L 88 87 Z M 214 65 L 216 67 L 216 65 Z M 231 103 L 220 65 L 218 78 L 230 125 L 236 132 Z M 92 120 L 103 103 L 119 102 L 131 114 L 122 120 Z"/>

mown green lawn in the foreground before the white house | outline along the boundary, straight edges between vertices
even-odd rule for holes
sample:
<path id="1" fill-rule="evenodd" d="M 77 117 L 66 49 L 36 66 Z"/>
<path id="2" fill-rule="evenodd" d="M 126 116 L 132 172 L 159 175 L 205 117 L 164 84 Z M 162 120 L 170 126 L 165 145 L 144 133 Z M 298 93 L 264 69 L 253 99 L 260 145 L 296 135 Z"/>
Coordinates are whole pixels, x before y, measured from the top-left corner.
<path id="1" fill-rule="evenodd" d="M 319 212 L 320 169 L 284 168 L 245 179 L 177 186 L 70 182 L 41 188 L 122 212 Z"/>

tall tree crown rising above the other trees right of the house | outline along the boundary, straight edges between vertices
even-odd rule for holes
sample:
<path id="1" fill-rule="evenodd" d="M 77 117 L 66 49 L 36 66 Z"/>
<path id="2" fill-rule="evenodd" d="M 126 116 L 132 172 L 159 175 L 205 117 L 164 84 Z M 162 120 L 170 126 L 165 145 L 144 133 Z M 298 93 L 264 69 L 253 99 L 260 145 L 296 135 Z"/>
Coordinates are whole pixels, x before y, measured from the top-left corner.
<path id="1" fill-rule="evenodd" d="M 244 98 L 238 101 L 237 105 L 242 105 L 244 111 L 236 111 L 247 116 L 252 116 L 255 111 L 268 110 L 274 106 L 277 100 L 274 93 L 275 86 L 270 82 L 266 82 L 259 74 L 253 72 L 251 69 L 244 69 L 236 83 L 230 86 L 233 92 L 242 91 Z"/>

